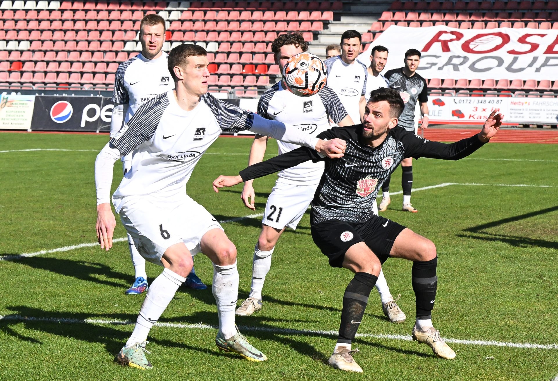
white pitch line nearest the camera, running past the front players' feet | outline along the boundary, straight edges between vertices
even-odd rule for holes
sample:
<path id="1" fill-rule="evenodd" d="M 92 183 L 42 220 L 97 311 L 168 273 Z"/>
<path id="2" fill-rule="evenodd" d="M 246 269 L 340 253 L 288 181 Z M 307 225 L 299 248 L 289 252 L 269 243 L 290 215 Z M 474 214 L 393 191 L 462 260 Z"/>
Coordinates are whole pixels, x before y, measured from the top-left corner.
<path id="1" fill-rule="evenodd" d="M 130 320 L 110 320 L 110 319 L 71 319 L 71 318 L 35 318 L 33 316 L 21 315 L 0 315 L 0 320 L 9 321 L 46 321 L 51 323 L 68 323 L 68 324 L 109 324 L 109 325 L 132 325 L 134 321 Z M 154 325 L 167 328 L 180 328 L 180 329 L 217 329 L 217 326 L 209 324 L 181 324 L 181 323 L 166 323 L 159 322 Z M 253 327 L 253 326 L 240 326 L 243 331 L 261 331 L 276 333 L 282 335 L 326 335 L 336 336 L 338 331 L 335 330 L 297 330 L 288 328 L 266 328 L 266 327 Z M 400 341 L 412 341 L 410 335 L 391 335 L 391 334 L 357 334 L 358 338 L 376 338 Z M 463 339 L 450 339 L 444 338 L 446 343 L 464 344 L 464 345 L 482 345 L 482 346 L 506 346 L 508 348 L 521 348 L 521 349 L 558 349 L 558 344 L 531 344 L 531 343 L 509 343 L 507 341 L 495 340 L 463 340 Z"/>

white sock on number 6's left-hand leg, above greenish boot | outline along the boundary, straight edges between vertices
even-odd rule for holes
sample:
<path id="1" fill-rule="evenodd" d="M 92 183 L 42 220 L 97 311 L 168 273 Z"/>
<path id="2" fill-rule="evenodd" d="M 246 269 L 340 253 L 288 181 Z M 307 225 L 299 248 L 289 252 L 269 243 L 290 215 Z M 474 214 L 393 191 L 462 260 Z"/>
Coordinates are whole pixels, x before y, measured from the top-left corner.
<path id="1" fill-rule="evenodd" d="M 136 326 L 132 336 L 126 341 L 126 347 L 130 348 L 136 343 L 142 343 L 147 339 L 147 335 L 155 323 L 161 317 L 163 311 L 174 297 L 178 287 L 186 280 L 176 272 L 165 268 L 161 275 L 151 282 L 147 290 L 147 295 L 140 309 L 140 315 L 136 321 Z"/>

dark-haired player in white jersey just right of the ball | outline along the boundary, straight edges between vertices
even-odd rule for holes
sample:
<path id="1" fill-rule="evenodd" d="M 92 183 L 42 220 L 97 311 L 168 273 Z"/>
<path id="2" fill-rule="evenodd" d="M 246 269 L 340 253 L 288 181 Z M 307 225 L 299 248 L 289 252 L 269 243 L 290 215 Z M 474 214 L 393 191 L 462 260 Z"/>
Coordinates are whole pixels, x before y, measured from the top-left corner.
<path id="1" fill-rule="evenodd" d="M 354 123 L 362 123 L 366 99 L 368 72 L 366 65 L 357 60 L 362 37 L 354 30 L 341 35 L 341 55 L 325 61 L 328 66 L 327 85 L 333 89 Z"/>

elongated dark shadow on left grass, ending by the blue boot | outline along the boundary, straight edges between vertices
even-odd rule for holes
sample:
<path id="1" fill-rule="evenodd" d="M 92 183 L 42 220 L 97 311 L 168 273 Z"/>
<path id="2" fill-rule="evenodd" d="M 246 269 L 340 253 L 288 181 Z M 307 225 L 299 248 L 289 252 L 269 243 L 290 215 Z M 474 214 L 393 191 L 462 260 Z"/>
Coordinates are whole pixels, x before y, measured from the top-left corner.
<path id="1" fill-rule="evenodd" d="M 80 280 L 95 282 L 100 285 L 127 288 L 130 282 L 133 281 L 132 276 L 114 271 L 109 266 L 99 262 L 73 261 L 51 257 L 26 257 L 12 260 L 11 262 L 55 272 L 60 275 L 71 276 Z M 108 277 L 119 281 L 98 279 L 96 276 Z"/>

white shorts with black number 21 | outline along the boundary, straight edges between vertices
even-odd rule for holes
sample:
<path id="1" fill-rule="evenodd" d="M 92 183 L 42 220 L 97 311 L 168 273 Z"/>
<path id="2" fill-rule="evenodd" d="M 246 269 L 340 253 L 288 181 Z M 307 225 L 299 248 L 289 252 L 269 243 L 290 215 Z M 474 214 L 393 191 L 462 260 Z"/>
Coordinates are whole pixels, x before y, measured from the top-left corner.
<path id="1" fill-rule="evenodd" d="M 294 185 L 277 180 L 267 198 L 262 223 L 276 229 L 286 226 L 296 229 L 314 198 L 316 188 L 318 184 Z"/>

